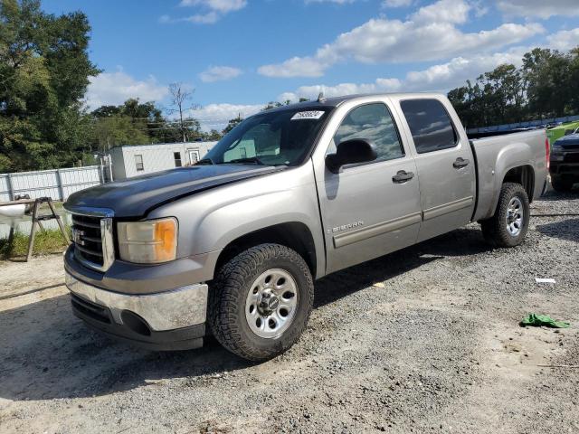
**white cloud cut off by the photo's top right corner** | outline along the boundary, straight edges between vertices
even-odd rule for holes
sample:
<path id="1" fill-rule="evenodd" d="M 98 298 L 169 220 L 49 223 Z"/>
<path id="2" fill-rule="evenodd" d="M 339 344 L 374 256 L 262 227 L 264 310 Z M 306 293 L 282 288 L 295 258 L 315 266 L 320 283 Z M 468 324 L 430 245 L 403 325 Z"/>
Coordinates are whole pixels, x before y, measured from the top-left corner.
<path id="1" fill-rule="evenodd" d="M 499 0 L 498 9 L 508 16 L 549 18 L 579 15 L 577 0 Z"/>

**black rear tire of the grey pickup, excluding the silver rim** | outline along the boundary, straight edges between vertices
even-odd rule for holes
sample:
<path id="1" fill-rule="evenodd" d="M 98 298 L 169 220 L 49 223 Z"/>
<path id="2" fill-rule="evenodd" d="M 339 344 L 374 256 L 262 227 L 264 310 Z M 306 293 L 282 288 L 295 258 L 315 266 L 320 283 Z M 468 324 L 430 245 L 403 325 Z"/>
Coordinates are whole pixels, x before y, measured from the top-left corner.
<path id="1" fill-rule="evenodd" d="M 523 226 L 517 236 L 513 236 L 507 229 L 507 213 L 508 203 L 515 196 L 523 204 Z M 482 235 L 493 247 L 515 247 L 525 239 L 528 230 L 528 222 L 530 217 L 529 203 L 527 192 L 521 184 L 505 183 L 500 189 L 498 196 L 497 209 L 495 215 L 490 219 L 480 222 Z"/>

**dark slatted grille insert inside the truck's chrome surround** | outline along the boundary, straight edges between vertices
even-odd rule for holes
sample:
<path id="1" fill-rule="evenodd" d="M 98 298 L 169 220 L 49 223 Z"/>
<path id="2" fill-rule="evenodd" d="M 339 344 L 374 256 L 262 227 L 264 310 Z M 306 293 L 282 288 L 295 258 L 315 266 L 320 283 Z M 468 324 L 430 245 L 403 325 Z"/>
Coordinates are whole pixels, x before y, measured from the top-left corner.
<path id="1" fill-rule="evenodd" d="M 88 261 L 93 268 L 104 265 L 99 217 L 73 214 L 72 241 L 77 258 Z"/>

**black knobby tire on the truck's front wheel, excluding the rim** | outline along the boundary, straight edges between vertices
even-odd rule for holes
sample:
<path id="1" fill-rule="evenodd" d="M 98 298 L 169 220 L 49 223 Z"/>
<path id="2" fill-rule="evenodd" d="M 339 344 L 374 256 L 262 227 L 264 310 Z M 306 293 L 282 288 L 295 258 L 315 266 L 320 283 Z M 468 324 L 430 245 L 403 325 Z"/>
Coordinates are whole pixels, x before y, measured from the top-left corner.
<path id="1" fill-rule="evenodd" d="M 245 317 L 245 303 L 255 278 L 268 269 L 284 269 L 295 279 L 298 307 L 289 328 L 278 338 L 255 335 Z M 233 354 L 259 362 L 269 360 L 298 341 L 308 324 L 314 283 L 299 254 L 279 244 L 261 244 L 229 260 L 210 285 L 208 323 L 217 341 Z"/>

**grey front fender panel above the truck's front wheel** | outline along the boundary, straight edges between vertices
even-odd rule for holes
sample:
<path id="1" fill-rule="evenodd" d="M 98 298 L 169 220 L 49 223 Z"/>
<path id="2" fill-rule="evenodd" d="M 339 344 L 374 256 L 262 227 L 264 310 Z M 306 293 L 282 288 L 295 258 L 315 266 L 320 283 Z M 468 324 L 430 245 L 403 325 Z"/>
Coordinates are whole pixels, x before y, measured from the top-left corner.
<path id="1" fill-rule="evenodd" d="M 253 231 L 299 222 L 314 240 L 317 269 L 326 267 L 310 164 L 198 193 L 159 207 L 148 217 L 163 216 L 175 216 L 179 221 L 180 258 L 223 250 Z"/>

